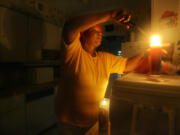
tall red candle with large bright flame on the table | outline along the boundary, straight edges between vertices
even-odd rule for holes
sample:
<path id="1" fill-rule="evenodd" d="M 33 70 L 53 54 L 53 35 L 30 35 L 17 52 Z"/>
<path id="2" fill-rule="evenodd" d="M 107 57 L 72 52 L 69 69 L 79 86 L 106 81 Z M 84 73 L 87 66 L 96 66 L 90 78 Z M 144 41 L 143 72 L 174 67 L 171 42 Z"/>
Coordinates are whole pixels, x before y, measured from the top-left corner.
<path id="1" fill-rule="evenodd" d="M 158 35 L 152 36 L 150 47 L 150 73 L 159 74 L 161 70 L 162 43 Z"/>

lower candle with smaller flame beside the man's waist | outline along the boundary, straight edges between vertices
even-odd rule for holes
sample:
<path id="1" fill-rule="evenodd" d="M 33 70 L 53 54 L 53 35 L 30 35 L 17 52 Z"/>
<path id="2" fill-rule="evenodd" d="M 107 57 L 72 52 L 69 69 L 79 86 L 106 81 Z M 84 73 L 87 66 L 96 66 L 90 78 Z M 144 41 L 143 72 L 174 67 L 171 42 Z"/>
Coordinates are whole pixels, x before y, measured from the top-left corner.
<path id="1" fill-rule="evenodd" d="M 104 98 L 99 103 L 99 135 L 108 135 L 109 123 L 109 99 Z"/>

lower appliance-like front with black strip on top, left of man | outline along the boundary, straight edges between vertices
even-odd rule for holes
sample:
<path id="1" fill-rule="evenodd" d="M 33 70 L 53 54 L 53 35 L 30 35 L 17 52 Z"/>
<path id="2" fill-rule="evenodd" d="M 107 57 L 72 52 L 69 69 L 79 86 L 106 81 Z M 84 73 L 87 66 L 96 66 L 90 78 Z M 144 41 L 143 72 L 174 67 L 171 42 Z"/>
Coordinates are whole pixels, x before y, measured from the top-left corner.
<path id="1" fill-rule="evenodd" d="M 28 95 L 28 135 L 37 135 L 55 124 L 53 89 Z"/>

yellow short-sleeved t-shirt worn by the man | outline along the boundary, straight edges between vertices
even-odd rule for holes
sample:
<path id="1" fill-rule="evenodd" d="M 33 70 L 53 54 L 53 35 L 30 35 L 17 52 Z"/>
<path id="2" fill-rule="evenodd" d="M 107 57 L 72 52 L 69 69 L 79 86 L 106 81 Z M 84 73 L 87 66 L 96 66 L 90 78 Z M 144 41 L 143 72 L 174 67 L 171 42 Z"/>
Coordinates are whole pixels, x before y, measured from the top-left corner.
<path id="1" fill-rule="evenodd" d="M 72 125 L 89 126 L 97 120 L 111 73 L 123 73 L 126 58 L 105 52 L 87 53 L 79 40 L 62 47 L 62 74 L 56 95 L 58 118 Z"/>

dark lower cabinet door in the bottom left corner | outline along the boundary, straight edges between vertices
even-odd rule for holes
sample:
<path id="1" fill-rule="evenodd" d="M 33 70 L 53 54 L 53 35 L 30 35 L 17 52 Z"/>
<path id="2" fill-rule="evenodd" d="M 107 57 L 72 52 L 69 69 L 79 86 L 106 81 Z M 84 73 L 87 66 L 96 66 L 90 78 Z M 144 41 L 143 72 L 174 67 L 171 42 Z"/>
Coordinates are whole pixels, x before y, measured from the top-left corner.
<path id="1" fill-rule="evenodd" d="M 0 99 L 0 135 L 25 135 L 24 96 Z"/>

